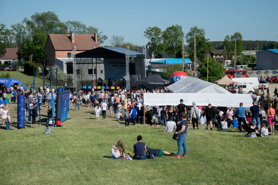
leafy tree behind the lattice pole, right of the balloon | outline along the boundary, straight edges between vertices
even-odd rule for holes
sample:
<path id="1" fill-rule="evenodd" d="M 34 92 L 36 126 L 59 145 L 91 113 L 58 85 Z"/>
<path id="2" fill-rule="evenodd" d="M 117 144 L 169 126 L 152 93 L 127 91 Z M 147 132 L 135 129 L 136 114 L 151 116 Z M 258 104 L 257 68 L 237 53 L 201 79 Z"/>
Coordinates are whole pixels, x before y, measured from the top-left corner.
<path id="1" fill-rule="evenodd" d="M 191 61 L 194 61 L 194 33 L 196 38 L 196 56 L 197 60 L 201 61 L 206 56 L 206 53 L 213 50 L 209 39 L 205 38 L 205 30 L 197 28 L 197 26 L 191 27 L 188 34 L 186 34 L 186 42 L 189 47 L 188 57 Z"/>

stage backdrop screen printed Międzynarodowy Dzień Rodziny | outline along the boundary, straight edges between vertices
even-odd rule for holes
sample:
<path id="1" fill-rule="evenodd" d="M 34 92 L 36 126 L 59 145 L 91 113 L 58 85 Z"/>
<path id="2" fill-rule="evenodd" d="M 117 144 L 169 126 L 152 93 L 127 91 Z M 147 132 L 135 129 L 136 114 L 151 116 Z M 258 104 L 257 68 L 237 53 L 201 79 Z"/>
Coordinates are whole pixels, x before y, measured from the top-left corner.
<path id="1" fill-rule="evenodd" d="M 126 78 L 126 61 L 123 58 L 111 58 L 104 60 L 104 79 L 121 80 Z"/>

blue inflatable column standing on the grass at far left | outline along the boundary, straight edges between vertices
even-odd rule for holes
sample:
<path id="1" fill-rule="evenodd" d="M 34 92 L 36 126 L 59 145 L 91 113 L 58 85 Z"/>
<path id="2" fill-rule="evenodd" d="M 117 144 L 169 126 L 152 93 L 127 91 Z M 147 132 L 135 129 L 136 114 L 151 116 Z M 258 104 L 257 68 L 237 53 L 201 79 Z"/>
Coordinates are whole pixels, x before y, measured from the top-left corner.
<path id="1" fill-rule="evenodd" d="M 17 129 L 25 129 L 25 95 L 17 96 Z"/>

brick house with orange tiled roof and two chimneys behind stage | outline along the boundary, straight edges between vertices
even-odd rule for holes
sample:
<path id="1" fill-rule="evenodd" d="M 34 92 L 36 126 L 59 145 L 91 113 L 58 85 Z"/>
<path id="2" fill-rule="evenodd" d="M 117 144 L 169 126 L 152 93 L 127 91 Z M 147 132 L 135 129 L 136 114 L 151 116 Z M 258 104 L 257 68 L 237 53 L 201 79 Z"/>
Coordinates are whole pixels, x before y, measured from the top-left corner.
<path id="1" fill-rule="evenodd" d="M 48 53 L 48 64 L 53 66 L 55 58 L 71 57 L 72 48 L 76 47 L 76 54 L 100 47 L 97 33 L 95 34 L 49 34 L 44 46 Z"/>

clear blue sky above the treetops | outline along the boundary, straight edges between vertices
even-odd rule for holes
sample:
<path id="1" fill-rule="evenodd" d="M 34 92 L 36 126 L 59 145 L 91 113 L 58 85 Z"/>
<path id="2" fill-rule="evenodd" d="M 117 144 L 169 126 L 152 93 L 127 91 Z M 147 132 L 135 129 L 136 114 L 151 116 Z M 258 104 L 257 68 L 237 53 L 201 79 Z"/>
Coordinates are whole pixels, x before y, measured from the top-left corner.
<path id="1" fill-rule="evenodd" d="M 244 40 L 274 40 L 278 32 L 278 1 L 2 1 L 0 23 L 10 28 L 34 12 L 55 12 L 61 21 L 76 20 L 111 35 L 123 35 L 125 41 L 146 45 L 147 27 L 165 30 L 181 25 L 186 33 L 192 26 L 203 28 L 211 41 L 240 32 Z M 108 39 L 109 40 L 109 39 Z M 278 34 L 276 35 L 278 41 Z M 105 43 L 105 45 L 109 42 Z"/>

